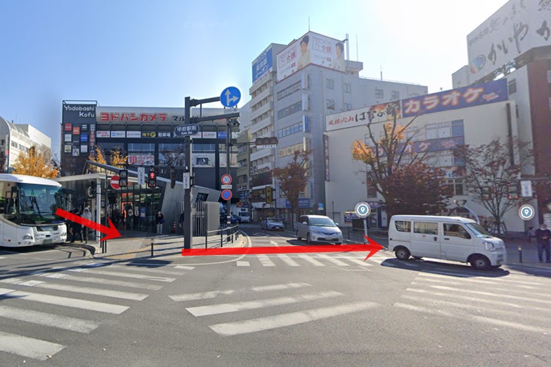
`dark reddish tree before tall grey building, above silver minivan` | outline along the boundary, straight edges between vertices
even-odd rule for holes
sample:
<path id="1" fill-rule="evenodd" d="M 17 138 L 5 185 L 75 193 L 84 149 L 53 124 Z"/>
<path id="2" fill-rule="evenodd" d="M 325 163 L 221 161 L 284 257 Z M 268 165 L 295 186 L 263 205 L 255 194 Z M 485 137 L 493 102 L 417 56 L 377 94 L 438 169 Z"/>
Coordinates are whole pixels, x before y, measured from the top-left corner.
<path id="1" fill-rule="evenodd" d="M 304 191 L 308 183 L 308 162 L 310 161 L 310 151 L 295 151 L 293 160 L 282 168 L 274 168 L 273 177 L 279 181 L 280 193 L 284 194 L 289 200 L 291 214 L 298 214 L 298 199 L 300 192 Z M 294 217 L 291 217 L 291 223 L 294 223 Z"/>

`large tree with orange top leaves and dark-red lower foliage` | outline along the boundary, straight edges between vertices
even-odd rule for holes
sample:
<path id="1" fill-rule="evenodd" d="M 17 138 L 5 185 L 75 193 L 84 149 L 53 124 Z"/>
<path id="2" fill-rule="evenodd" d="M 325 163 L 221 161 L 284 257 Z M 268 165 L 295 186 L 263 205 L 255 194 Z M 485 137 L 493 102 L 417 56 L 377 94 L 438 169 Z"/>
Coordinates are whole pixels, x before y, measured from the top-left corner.
<path id="1" fill-rule="evenodd" d="M 433 170 L 426 164 L 419 164 L 428 156 L 430 147 L 426 148 L 424 153 L 413 153 L 415 133 L 406 137 L 407 129 L 417 116 L 407 124 L 400 125 L 397 124 L 397 111 L 391 111 L 391 113 L 393 122 L 384 124 L 379 139 L 375 137 L 371 124 L 367 125 L 369 144 L 361 140 L 353 142 L 352 157 L 366 164 L 366 184 L 373 186 L 384 198 L 389 218 L 393 214 L 402 213 L 403 210 L 422 212 L 422 214 L 438 210 L 444 205 L 448 190 L 440 186 L 439 170 Z M 395 173 L 399 173 L 399 176 L 392 178 Z M 398 181 L 400 177 L 405 181 Z M 425 191 L 426 187 L 433 190 L 432 194 Z M 404 196 L 416 192 L 427 193 L 422 196 L 424 203 L 420 203 L 414 197 Z M 416 203 L 424 205 L 421 207 Z M 421 210 L 422 208 L 426 210 Z"/>

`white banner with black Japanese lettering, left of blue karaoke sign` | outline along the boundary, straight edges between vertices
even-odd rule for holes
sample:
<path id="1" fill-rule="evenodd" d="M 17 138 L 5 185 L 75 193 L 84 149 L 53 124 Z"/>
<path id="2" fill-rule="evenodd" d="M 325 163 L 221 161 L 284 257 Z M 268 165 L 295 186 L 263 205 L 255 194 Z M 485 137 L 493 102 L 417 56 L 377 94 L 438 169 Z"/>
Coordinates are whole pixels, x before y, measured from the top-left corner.
<path id="1" fill-rule="evenodd" d="M 400 108 L 399 101 L 333 113 L 332 115 L 325 116 L 325 131 L 361 126 L 371 124 L 372 122 L 391 121 L 394 120 L 394 115 L 396 115 L 397 119 L 402 118 L 402 109 Z"/>

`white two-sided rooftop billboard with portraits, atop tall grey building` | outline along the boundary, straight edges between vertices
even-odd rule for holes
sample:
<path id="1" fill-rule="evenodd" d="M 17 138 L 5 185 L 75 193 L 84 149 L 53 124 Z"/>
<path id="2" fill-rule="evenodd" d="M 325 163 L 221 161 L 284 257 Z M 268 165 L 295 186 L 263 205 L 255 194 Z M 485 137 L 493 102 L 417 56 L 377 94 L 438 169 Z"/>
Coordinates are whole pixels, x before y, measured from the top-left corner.
<path id="1" fill-rule="evenodd" d="M 277 62 L 278 82 L 310 64 L 344 73 L 344 43 L 335 38 L 308 32 L 280 52 Z"/>

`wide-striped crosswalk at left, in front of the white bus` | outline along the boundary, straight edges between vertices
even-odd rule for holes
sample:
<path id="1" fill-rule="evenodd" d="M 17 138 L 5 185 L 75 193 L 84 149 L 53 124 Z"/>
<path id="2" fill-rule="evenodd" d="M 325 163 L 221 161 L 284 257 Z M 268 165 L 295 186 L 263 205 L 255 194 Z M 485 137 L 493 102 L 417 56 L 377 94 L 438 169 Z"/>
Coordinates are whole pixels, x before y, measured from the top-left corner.
<path id="1" fill-rule="evenodd" d="M 145 300 L 152 291 L 193 269 L 97 261 L 28 271 L 14 277 L 3 275 L 0 360 L 5 353 L 48 359 L 70 344 L 74 335 L 91 333 L 109 315 L 120 315 L 134 302 Z"/>

